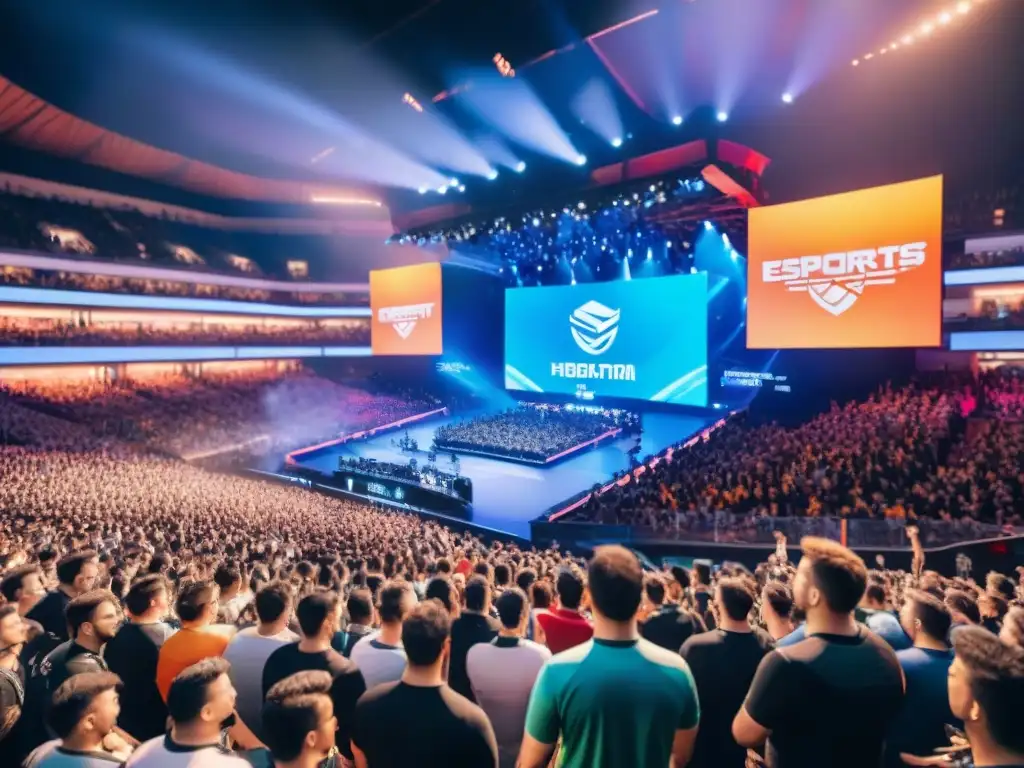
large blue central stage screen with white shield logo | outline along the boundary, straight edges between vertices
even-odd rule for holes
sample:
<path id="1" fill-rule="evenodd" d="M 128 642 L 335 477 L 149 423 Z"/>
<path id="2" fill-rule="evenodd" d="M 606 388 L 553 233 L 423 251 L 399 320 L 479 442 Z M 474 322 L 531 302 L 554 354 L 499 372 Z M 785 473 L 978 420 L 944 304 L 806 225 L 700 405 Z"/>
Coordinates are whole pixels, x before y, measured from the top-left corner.
<path id="1" fill-rule="evenodd" d="M 505 294 L 505 388 L 708 404 L 708 275 Z"/>

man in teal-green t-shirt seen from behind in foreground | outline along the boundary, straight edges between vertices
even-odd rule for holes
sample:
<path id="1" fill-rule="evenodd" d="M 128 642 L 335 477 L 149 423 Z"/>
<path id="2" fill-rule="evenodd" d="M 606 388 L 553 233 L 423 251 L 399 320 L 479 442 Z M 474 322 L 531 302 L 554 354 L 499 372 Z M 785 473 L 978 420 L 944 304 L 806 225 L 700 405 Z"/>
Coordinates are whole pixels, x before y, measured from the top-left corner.
<path id="1" fill-rule="evenodd" d="M 587 575 L 594 639 L 541 671 L 520 768 L 546 766 L 559 737 L 562 768 L 686 765 L 700 718 L 696 686 L 678 653 L 640 637 L 640 561 L 624 547 L 599 547 Z"/>

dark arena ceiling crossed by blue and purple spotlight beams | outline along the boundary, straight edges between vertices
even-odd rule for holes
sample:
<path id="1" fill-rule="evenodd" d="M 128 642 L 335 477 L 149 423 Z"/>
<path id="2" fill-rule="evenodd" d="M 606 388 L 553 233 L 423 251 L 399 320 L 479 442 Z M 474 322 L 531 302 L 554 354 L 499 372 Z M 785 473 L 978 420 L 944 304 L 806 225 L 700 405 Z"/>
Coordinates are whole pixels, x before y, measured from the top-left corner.
<path id="1" fill-rule="evenodd" d="M 972 1 L 978 4 L 964 26 L 980 26 L 1004 2 Z M 289 195 L 302 197 L 311 183 L 333 184 L 355 198 L 386 195 L 399 208 L 436 204 L 436 198 L 417 194 L 428 183 L 422 179 L 432 184 L 456 173 L 474 201 L 528 195 L 552 179 L 587 182 L 587 168 L 573 167 L 555 157 L 558 147 L 545 145 L 550 136 L 530 143 L 516 135 L 517 124 L 538 118 L 524 118 L 514 99 L 498 109 L 469 104 L 480 91 L 473 90 L 475 84 L 500 77 L 498 53 L 515 68 L 530 105 L 589 158 L 588 168 L 682 143 L 709 127 L 774 156 L 777 151 L 759 138 L 777 139 L 787 125 L 794 128 L 797 115 L 806 123 L 812 108 L 802 102 L 813 96 L 823 103 L 821 93 L 828 89 L 822 83 L 850 79 L 851 58 L 898 41 L 927 14 L 955 5 L 955 0 L 2 2 L 8 23 L 0 33 L 0 75 L 30 96 L 117 134 L 103 139 L 90 133 L 91 141 L 85 141 L 81 125 L 37 119 L 36 139 L 29 141 L 26 113 L 0 122 L 7 141 L 86 162 L 93 153 L 116 163 L 131 154 L 115 140 L 124 137 L 153 147 L 136 165 L 151 178 L 159 171 L 157 180 L 170 185 L 187 188 L 189 180 L 202 179 L 205 194 L 233 196 L 244 180 L 238 174 L 246 174 L 303 182 L 297 187 L 301 193 Z M 893 51 L 890 59 L 899 55 Z M 873 63 L 882 72 L 890 62 Z M 928 85 L 941 90 L 935 84 L 923 87 Z M 575 108 L 584 91 L 593 96 L 591 114 L 596 110 L 598 118 L 617 121 L 620 128 L 604 132 L 621 130 L 624 146 L 611 146 L 593 121 L 582 123 Z M 792 108 L 780 102 L 787 91 L 796 94 Z M 404 94 L 425 113 L 403 101 Z M 716 113 L 725 110 L 729 125 L 715 126 Z M 425 115 L 432 121 L 429 128 Z M 683 126 L 673 125 L 676 115 L 685 116 Z M 496 142 L 498 155 L 512 152 L 526 163 L 521 178 L 503 173 L 501 181 L 488 184 L 486 169 L 499 167 Z M 195 165 L 190 170 L 176 165 L 167 153 Z M 234 176 L 218 177 L 218 168 Z M 121 170 L 135 172 L 127 162 Z M 257 197 L 282 198 L 280 185 L 264 186 Z M 394 193 L 402 187 L 404 193 Z M 434 198 L 432 188 L 427 197 Z"/>

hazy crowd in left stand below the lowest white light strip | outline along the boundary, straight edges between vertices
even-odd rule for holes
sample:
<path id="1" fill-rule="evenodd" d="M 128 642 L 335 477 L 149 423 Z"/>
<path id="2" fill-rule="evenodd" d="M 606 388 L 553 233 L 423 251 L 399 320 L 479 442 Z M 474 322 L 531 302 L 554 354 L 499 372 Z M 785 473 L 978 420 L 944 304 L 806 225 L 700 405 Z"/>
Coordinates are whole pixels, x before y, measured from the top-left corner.
<path id="1" fill-rule="evenodd" d="M 306 371 L 174 376 L 108 384 L 49 381 L 0 387 L 0 442 L 22 442 L 29 410 L 92 435 L 184 459 L 266 454 L 389 424 L 436 407 L 426 393 L 381 394 Z M 17 416 L 14 416 L 14 415 Z M 35 418 L 35 417 L 31 417 Z"/>

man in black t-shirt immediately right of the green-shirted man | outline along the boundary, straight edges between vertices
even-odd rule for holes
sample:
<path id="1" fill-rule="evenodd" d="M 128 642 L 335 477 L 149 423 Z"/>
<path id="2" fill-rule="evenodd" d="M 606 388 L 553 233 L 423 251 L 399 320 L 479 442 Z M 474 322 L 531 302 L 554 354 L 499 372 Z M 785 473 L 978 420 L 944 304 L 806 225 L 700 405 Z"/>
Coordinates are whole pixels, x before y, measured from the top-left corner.
<path id="1" fill-rule="evenodd" d="M 722 579 L 715 589 L 718 629 L 694 635 L 680 649 L 690 666 L 700 700 L 700 729 L 690 765 L 697 768 L 742 768 L 746 750 L 732 738 L 732 719 L 771 638 L 752 630 L 750 613 L 756 593 L 743 579 Z"/>

